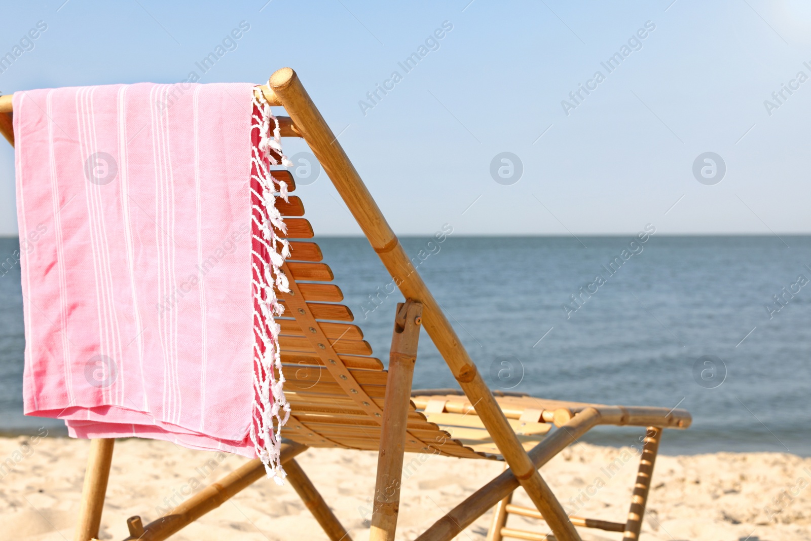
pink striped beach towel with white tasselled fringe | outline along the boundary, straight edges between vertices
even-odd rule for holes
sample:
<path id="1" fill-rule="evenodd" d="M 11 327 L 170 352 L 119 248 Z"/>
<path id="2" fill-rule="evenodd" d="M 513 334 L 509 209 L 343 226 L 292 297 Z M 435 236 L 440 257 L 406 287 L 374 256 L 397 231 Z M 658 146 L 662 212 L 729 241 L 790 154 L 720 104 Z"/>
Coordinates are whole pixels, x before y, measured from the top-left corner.
<path id="1" fill-rule="evenodd" d="M 261 457 L 284 476 L 273 316 L 289 246 L 273 202 L 287 195 L 268 166 L 289 162 L 254 88 L 15 93 L 26 414 L 75 437 Z"/>

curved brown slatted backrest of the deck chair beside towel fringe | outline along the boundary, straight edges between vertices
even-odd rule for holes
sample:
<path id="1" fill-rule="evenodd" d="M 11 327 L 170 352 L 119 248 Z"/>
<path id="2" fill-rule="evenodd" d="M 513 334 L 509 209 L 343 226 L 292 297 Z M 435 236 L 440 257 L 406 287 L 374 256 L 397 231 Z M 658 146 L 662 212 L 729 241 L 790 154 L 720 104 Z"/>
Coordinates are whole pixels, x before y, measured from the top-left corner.
<path id="1" fill-rule="evenodd" d="M 295 190 L 289 171 L 272 174 L 288 184 L 288 191 Z M 291 293 L 279 292 L 285 314 L 277 318 L 285 397 L 291 406 L 281 436 L 311 447 L 378 450 L 387 371 L 372 356 L 361 328 L 351 323 L 354 316 L 341 304 L 341 289 L 329 283 L 333 272 L 323 262 L 320 247 L 310 240 L 313 230 L 303 217 L 302 200 L 290 195 L 287 203 L 278 199 L 277 208 L 291 248 L 284 265 Z M 475 452 L 431 423 L 414 401 L 407 429 L 407 451 L 494 457 Z"/>

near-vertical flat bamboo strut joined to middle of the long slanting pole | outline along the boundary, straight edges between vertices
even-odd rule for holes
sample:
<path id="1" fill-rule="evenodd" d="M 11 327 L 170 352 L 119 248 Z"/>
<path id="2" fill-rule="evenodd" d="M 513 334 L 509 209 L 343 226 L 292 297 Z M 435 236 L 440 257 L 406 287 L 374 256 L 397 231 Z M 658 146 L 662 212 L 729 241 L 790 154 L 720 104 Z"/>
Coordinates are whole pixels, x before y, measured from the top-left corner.
<path id="1" fill-rule="evenodd" d="M 375 505 L 371 516 L 371 541 L 393 541 L 400 509 L 400 483 L 405 452 L 405 432 L 411 401 L 411 381 L 417 360 L 423 305 L 397 303 L 388 354 L 388 377 L 377 455 Z"/>

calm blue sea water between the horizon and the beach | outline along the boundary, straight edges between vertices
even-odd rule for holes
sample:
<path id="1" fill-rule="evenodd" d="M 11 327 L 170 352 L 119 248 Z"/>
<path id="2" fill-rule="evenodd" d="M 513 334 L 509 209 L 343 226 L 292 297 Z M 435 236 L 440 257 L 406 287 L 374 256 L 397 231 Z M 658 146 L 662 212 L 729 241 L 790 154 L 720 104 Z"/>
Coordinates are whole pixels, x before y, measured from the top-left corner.
<path id="1" fill-rule="evenodd" d="M 811 455 L 811 237 L 633 239 L 401 240 L 493 389 L 689 410 L 693 426 L 665 432 L 663 453 Z M 388 294 L 391 277 L 365 238 L 318 242 L 386 362 L 401 301 Z M 0 277 L 0 432 L 59 433 L 59 421 L 22 415 L 17 248 L 0 238 L 10 257 Z M 457 385 L 423 333 L 414 388 L 442 387 Z M 641 433 L 599 427 L 585 439 L 632 444 Z"/>

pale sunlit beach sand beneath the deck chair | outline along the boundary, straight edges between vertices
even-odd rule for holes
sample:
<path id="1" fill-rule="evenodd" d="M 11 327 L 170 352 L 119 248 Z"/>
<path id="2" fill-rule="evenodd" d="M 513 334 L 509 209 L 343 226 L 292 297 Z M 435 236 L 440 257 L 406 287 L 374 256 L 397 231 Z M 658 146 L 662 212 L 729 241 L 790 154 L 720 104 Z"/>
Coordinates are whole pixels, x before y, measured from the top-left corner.
<path id="1" fill-rule="evenodd" d="M 88 441 L 44 437 L 0 438 L 0 538 L 65 541 L 72 526 Z M 421 531 L 486 483 L 498 462 L 406 455 L 397 539 Z M 416 459 L 416 460 L 413 460 Z M 213 461 L 213 462 L 211 462 Z M 127 537 L 125 519 L 144 524 L 159 507 L 219 479 L 242 457 L 182 449 L 151 440 L 119 440 L 110 474 L 101 539 Z M 298 457 L 315 486 L 354 539 L 368 539 L 376 453 L 310 449 Z M 205 465 L 208 463 L 209 468 Z M 609 468 L 613 463 L 615 466 Z M 9 470 L 11 466 L 11 469 Z M 564 506 L 580 516 L 624 522 L 636 474 L 633 449 L 575 444 L 541 470 Z M 791 541 L 811 539 L 811 458 L 785 453 L 714 453 L 660 456 L 642 539 Z M 521 491 L 514 503 L 528 505 Z M 457 539 L 480 541 L 491 513 Z M 542 522 L 512 516 L 509 526 L 546 532 Z M 621 535 L 581 529 L 583 539 Z M 263 479 L 187 526 L 171 539 L 326 539 L 290 485 Z"/>

